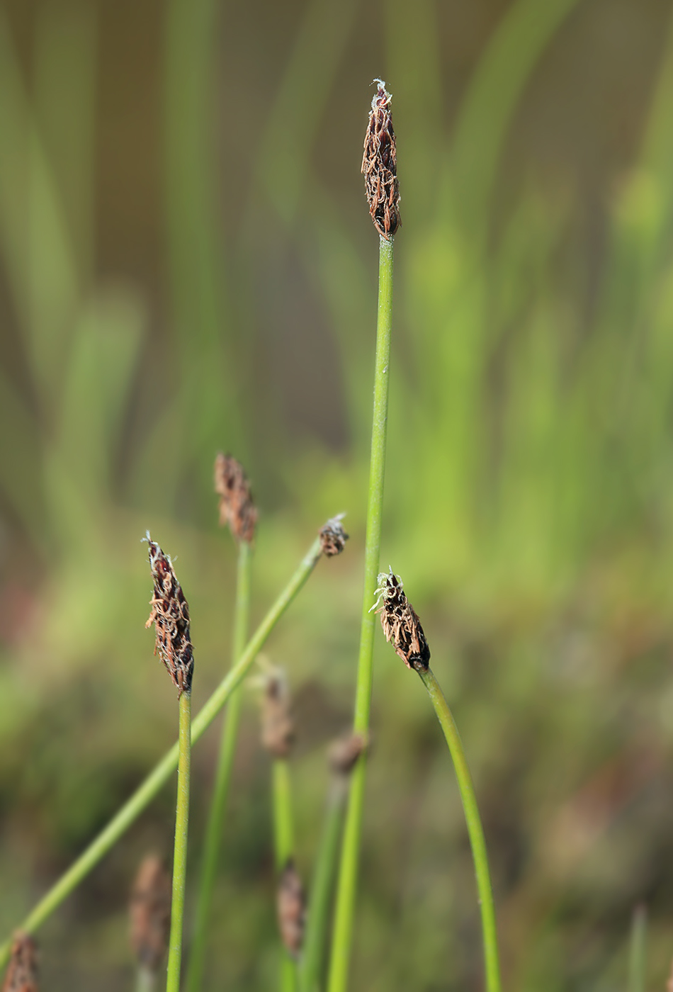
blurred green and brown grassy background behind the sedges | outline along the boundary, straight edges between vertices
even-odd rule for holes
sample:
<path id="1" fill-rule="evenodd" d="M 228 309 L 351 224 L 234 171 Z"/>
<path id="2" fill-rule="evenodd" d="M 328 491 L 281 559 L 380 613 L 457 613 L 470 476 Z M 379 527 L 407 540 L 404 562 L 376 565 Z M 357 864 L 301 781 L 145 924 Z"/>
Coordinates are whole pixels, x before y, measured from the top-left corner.
<path id="1" fill-rule="evenodd" d="M 195 705 L 229 664 L 215 452 L 262 518 L 261 617 L 295 694 L 298 866 L 349 722 L 377 235 L 360 157 L 393 92 L 383 564 L 461 727 L 505 988 L 648 988 L 673 956 L 670 0 L 6 0 L 0 6 L 0 925 L 175 735 L 140 538 L 176 558 Z M 446 749 L 378 638 L 354 992 L 480 989 Z M 208 989 L 276 982 L 269 761 L 248 693 Z M 196 864 L 217 732 L 194 752 Z M 126 902 L 173 786 L 40 933 L 52 992 L 130 989 Z M 192 875 L 193 878 L 193 875 Z"/>

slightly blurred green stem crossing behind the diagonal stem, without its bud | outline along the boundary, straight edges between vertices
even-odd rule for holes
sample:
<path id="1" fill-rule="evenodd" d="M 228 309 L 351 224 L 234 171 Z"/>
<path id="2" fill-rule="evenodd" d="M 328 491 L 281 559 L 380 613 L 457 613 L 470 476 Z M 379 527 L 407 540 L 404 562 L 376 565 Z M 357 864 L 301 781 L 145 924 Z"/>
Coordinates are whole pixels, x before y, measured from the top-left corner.
<path id="1" fill-rule="evenodd" d="M 234 609 L 234 634 L 232 644 L 232 668 L 236 665 L 245 649 L 248 637 L 250 617 L 250 574 L 253 551 L 247 541 L 239 545 L 238 568 L 236 574 L 236 606 Z M 203 968 L 208 943 L 210 922 L 210 907 L 212 905 L 215 878 L 224 832 L 224 819 L 231 782 L 231 770 L 234 765 L 236 741 L 241 719 L 241 704 L 243 702 L 243 687 L 239 686 L 232 692 L 222 727 L 220 753 L 215 772 L 215 784 L 210 801 L 208 823 L 203 844 L 203 858 L 199 878 L 198 896 L 189 965 L 187 969 L 188 992 L 199 992 L 203 981 Z"/>

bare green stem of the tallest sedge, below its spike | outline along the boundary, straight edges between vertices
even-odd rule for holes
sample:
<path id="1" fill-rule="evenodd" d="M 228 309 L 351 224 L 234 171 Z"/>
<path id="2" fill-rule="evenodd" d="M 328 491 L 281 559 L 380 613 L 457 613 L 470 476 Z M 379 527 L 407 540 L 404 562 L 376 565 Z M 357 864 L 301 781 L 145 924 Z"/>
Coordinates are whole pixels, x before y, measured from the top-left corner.
<path id="1" fill-rule="evenodd" d="M 386 433 L 388 427 L 388 386 L 391 364 L 391 320 L 393 314 L 393 239 L 380 239 L 379 314 L 377 321 L 377 356 L 374 373 L 374 420 L 372 456 L 367 504 L 367 538 L 365 545 L 365 586 L 360 628 L 360 657 L 355 695 L 353 730 L 367 733 L 372 702 L 372 654 L 374 622 L 370 613 L 374 602 L 381 556 L 381 521 L 384 504 L 386 469 Z M 360 836 L 365 798 L 365 758 L 358 761 L 351 779 L 346 828 L 341 849 L 337 903 L 332 937 L 332 957 L 328 992 L 345 992 L 353 938 L 353 918 L 360 857 Z"/>

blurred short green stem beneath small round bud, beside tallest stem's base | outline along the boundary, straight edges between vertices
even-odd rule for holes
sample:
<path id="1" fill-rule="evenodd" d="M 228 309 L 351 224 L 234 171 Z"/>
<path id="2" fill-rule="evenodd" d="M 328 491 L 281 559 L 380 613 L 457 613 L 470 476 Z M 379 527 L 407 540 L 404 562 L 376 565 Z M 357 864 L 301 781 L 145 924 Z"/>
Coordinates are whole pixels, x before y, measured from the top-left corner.
<path id="1" fill-rule="evenodd" d="M 306 915 L 306 935 L 299 965 L 300 992 L 317 992 L 320 987 L 329 906 L 347 796 L 345 787 L 346 783 L 341 779 L 334 782 L 327 799 L 322 836 L 315 858 L 313 884 Z"/>

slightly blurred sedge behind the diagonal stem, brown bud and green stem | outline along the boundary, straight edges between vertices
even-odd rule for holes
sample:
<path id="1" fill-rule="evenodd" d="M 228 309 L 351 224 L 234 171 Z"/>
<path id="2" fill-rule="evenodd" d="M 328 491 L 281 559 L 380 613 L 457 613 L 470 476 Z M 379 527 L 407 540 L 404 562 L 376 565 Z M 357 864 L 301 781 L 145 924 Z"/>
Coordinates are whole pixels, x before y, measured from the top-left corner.
<path id="1" fill-rule="evenodd" d="M 232 667 L 234 667 L 243 654 L 248 639 L 251 566 L 258 514 L 243 467 L 230 455 L 220 453 L 215 459 L 215 491 L 220 497 L 220 524 L 229 525 L 238 545 L 232 643 Z M 242 702 L 242 686 L 239 686 L 229 700 L 220 738 L 215 782 L 203 843 L 194 929 L 187 967 L 186 986 L 188 992 L 199 992 L 203 981 L 210 910 L 241 721 Z"/>

